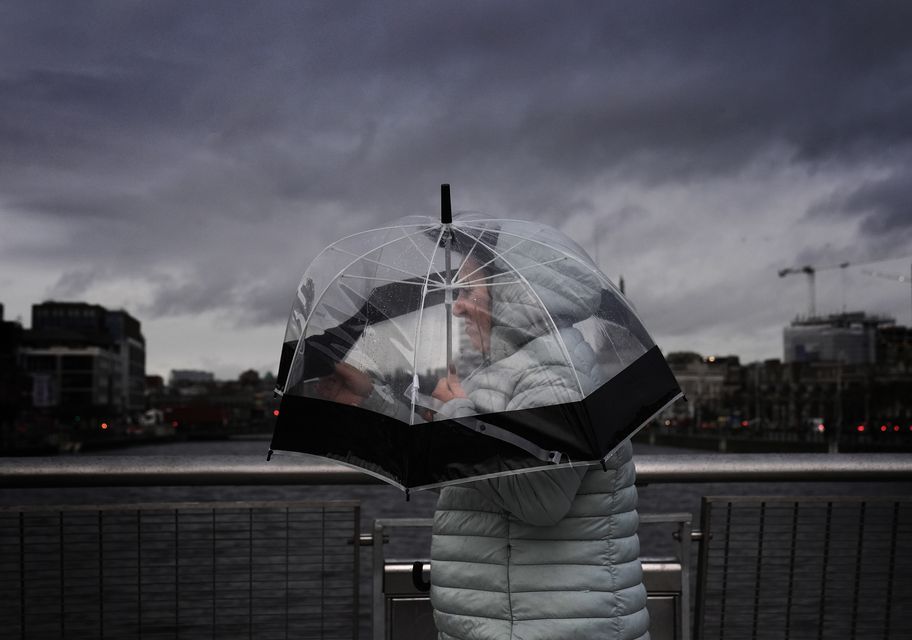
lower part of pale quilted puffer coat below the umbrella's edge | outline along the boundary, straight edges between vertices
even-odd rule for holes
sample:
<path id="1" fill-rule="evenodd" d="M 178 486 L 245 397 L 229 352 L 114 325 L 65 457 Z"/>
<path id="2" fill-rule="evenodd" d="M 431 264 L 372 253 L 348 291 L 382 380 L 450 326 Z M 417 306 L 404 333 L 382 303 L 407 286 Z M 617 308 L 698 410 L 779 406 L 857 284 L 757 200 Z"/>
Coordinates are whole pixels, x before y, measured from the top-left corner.
<path id="1" fill-rule="evenodd" d="M 626 442 L 608 471 L 443 489 L 431 545 L 441 640 L 648 638 L 634 476 Z"/>

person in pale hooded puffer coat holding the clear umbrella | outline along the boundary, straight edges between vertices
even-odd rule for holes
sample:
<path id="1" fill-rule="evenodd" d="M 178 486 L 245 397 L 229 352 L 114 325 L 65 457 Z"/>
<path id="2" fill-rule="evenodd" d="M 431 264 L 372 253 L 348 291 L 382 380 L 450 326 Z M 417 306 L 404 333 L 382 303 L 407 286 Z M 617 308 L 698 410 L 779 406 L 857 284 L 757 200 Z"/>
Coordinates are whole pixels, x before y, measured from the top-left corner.
<path id="1" fill-rule="evenodd" d="M 534 251 L 527 258 L 534 262 Z M 562 261 L 528 269 L 528 282 L 518 286 L 501 277 L 499 262 L 496 249 L 481 241 L 464 256 L 452 313 L 463 320 L 481 364 L 462 379 L 451 369 L 438 380 L 425 419 L 573 402 L 597 372 L 595 353 L 573 326 L 599 304 L 592 293 L 598 283 L 587 281 L 592 276 Z M 565 350 L 549 322 L 558 323 Z M 326 399 L 365 408 L 390 402 L 345 363 L 318 389 Z M 387 413 L 411 411 L 392 402 L 401 406 Z M 625 440 L 604 468 L 577 465 L 444 487 L 431 545 L 440 639 L 648 638 L 634 482 Z"/>

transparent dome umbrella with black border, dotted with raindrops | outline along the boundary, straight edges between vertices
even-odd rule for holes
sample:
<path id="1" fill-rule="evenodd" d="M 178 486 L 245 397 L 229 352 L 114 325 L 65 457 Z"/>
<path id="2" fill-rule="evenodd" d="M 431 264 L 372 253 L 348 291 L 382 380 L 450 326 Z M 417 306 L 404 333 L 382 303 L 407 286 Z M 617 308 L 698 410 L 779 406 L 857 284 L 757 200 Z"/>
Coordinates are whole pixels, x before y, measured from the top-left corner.
<path id="1" fill-rule="evenodd" d="M 342 238 L 295 291 L 270 455 L 409 490 L 599 464 L 682 396 L 623 294 L 559 231 L 450 211 Z"/>

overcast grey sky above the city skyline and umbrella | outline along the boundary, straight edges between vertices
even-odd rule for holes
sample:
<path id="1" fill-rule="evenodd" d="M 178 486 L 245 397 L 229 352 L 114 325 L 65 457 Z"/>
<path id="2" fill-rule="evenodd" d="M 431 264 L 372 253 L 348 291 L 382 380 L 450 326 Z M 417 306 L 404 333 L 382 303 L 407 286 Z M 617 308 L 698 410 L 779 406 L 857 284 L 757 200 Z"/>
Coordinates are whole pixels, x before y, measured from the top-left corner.
<path id="1" fill-rule="evenodd" d="M 141 322 L 147 370 L 277 367 L 323 245 L 552 224 L 665 352 L 781 357 L 808 307 L 909 324 L 908 2 L 2 2 L 0 302 Z M 862 265 L 860 263 L 896 257 Z"/>

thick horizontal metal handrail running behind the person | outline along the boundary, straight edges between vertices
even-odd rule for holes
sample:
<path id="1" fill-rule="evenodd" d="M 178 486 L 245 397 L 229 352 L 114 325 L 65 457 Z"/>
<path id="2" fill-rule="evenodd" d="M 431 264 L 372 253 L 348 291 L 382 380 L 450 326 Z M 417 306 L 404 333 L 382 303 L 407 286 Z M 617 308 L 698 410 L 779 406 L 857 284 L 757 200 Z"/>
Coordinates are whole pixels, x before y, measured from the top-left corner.
<path id="1" fill-rule="evenodd" d="M 912 480 L 912 454 L 698 454 L 634 458 L 639 484 Z M 0 458 L 0 487 L 369 485 L 340 464 L 277 456 L 78 456 Z"/>

